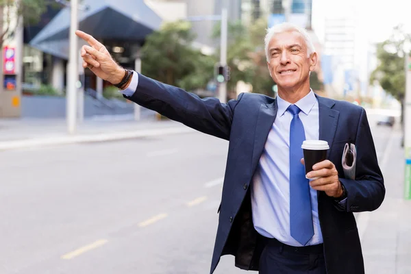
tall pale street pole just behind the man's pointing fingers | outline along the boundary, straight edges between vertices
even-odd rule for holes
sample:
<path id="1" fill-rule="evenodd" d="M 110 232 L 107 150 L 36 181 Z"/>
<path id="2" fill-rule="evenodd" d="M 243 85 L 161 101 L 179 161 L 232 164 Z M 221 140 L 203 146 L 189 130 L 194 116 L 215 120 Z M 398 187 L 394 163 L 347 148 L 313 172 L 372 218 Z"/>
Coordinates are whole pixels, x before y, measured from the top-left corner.
<path id="1" fill-rule="evenodd" d="M 77 107 L 77 36 L 75 31 L 78 29 L 77 12 L 78 0 L 71 0 L 71 22 L 70 22 L 70 55 L 69 55 L 69 77 L 66 90 L 66 120 L 69 134 L 74 134 L 76 129 L 76 107 Z"/>

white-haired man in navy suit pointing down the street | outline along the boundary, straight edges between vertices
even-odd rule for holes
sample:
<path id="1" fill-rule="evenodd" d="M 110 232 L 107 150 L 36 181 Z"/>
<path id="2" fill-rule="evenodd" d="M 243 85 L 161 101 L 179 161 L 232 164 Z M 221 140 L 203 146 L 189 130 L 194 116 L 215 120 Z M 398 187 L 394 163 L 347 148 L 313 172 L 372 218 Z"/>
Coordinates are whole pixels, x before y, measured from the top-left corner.
<path id="1" fill-rule="evenodd" d="M 353 212 L 381 205 L 384 179 L 364 109 L 310 89 L 317 55 L 305 29 L 283 23 L 266 34 L 276 99 L 242 93 L 228 103 L 122 69 L 97 40 L 76 34 L 90 45 L 82 48 L 83 66 L 127 99 L 229 140 L 210 273 L 226 254 L 238 268 L 262 274 L 364 273 Z M 319 179 L 305 177 L 303 140 L 329 144 L 327 160 L 308 173 Z M 347 142 L 358 149 L 355 180 L 344 177 L 341 165 Z"/>

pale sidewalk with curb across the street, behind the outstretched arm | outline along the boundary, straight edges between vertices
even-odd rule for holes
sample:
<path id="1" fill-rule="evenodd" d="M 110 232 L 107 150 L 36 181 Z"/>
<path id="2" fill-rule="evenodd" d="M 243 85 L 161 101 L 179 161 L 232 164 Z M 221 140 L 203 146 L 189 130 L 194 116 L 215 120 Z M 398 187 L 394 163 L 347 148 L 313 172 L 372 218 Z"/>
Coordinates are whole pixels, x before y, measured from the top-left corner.
<path id="1" fill-rule="evenodd" d="M 193 129 L 175 121 L 95 121 L 77 125 L 75 134 L 68 134 L 64 119 L 0 119 L 0 150 L 75 142 L 101 142 L 143 136 L 182 134 Z"/>

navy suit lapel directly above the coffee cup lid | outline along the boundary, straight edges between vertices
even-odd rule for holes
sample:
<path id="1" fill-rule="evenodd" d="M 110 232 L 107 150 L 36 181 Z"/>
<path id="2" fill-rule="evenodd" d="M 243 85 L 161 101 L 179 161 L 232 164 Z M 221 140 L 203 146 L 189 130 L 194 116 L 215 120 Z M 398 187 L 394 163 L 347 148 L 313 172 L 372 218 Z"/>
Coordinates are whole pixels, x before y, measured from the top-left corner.
<path id="1" fill-rule="evenodd" d="M 338 116 L 340 116 L 340 112 L 332 109 L 332 107 L 335 105 L 332 99 L 319 97 L 318 95 L 316 95 L 316 97 L 319 101 L 319 139 L 328 142 L 329 150 L 327 153 L 327 158 L 329 158 L 329 151 L 331 151 L 334 136 L 336 134 Z"/>

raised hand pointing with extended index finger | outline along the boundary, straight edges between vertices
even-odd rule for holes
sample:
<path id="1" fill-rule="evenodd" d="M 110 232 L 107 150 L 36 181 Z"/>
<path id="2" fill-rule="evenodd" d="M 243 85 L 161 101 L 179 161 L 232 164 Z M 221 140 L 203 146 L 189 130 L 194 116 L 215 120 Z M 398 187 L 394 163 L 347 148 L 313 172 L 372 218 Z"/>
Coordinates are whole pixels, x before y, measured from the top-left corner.
<path id="1" fill-rule="evenodd" d="M 77 30 L 75 35 L 90 45 L 82 47 L 83 67 L 88 67 L 92 73 L 101 79 L 107 80 L 112 84 L 119 84 L 125 75 L 125 70 L 113 60 L 104 45 L 85 32 Z"/>

